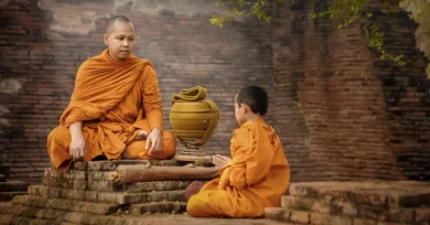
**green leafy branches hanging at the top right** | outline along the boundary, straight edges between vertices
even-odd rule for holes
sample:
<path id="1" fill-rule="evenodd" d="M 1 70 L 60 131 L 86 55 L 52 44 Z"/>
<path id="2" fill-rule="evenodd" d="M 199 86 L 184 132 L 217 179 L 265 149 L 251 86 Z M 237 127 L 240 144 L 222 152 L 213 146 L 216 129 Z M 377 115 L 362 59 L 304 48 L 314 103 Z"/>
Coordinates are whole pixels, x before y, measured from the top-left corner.
<path id="1" fill-rule="evenodd" d="M 211 23 L 223 28 L 224 22 L 233 21 L 236 17 L 257 17 L 260 20 L 270 22 L 271 9 L 273 4 L 281 3 L 282 0 L 218 0 L 215 4 L 224 10 L 222 15 L 213 15 Z M 418 45 L 421 51 L 430 58 L 430 1 L 429 0 L 399 0 L 395 1 L 410 12 L 410 17 L 418 23 L 420 28 L 417 31 Z M 330 18 L 338 22 L 337 29 L 344 29 L 352 23 L 357 22 L 363 25 L 368 45 L 380 53 L 380 58 L 389 58 L 396 64 L 404 66 L 404 55 L 393 55 L 384 49 L 384 33 L 380 32 L 377 23 L 369 19 L 373 17 L 367 12 L 367 7 L 372 0 L 334 0 L 333 3 L 324 11 L 316 12 L 312 15 L 313 19 Z M 389 6 L 389 0 L 384 0 L 386 6 Z M 430 64 L 427 68 L 428 78 L 430 78 Z"/>

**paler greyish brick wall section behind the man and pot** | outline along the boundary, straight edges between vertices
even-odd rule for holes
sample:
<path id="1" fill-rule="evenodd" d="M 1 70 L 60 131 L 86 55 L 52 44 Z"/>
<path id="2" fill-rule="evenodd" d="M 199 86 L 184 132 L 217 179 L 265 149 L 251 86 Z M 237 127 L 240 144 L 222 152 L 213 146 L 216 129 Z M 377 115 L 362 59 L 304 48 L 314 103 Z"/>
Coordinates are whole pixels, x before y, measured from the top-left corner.
<path id="1" fill-rule="evenodd" d="M 164 128 L 170 129 L 172 95 L 204 86 L 222 110 L 216 135 L 204 149 L 229 153 L 237 127 L 235 94 L 250 84 L 271 89 L 270 26 L 258 22 L 213 26 L 208 21 L 213 1 L 191 0 L 190 9 L 175 0 L 130 2 L 9 1 L 0 8 L 0 21 L 7 25 L 0 31 L 0 75 L 22 85 L 18 94 L 0 97 L 0 105 L 10 110 L 4 118 L 11 127 L 3 129 L 0 147 L 11 162 L 11 179 L 41 181 L 43 169 L 50 167 L 46 136 L 68 104 L 78 66 L 105 47 L 106 15 L 117 13 L 135 22 L 135 54 L 155 66 Z"/>

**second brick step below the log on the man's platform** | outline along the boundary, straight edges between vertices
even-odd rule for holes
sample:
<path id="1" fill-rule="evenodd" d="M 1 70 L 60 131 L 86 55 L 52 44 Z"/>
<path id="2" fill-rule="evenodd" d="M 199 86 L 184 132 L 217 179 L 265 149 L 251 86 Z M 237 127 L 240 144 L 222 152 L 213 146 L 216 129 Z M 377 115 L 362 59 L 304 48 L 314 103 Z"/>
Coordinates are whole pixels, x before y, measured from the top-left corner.
<path id="1" fill-rule="evenodd" d="M 66 190 L 44 185 L 31 185 L 29 186 L 29 194 L 35 196 L 78 200 L 87 202 L 133 204 L 159 201 L 184 201 L 185 191 L 176 190 L 147 193 L 127 193 Z"/>

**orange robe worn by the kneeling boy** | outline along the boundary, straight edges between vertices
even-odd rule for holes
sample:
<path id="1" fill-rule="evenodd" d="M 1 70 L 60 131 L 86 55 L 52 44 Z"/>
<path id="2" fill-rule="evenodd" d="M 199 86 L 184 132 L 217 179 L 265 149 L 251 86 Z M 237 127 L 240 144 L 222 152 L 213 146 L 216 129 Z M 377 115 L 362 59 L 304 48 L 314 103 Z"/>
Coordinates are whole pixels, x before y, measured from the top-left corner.
<path id="1" fill-rule="evenodd" d="M 221 178 L 193 195 L 186 211 L 196 217 L 260 217 L 278 207 L 290 183 L 290 167 L 275 130 L 262 119 L 234 131 L 232 161 Z"/>

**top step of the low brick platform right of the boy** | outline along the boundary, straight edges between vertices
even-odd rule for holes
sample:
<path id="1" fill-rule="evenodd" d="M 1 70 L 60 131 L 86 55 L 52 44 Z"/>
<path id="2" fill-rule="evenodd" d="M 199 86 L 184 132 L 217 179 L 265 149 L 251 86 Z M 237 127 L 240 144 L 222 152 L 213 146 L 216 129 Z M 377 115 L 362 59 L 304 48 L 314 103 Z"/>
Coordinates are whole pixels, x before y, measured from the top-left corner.
<path id="1" fill-rule="evenodd" d="M 387 208 L 430 206 L 430 183 L 415 181 L 303 182 L 292 183 L 293 196 L 386 205 Z"/>

